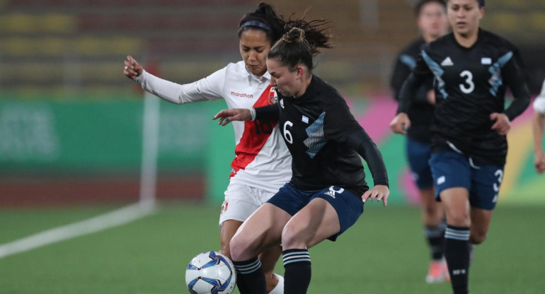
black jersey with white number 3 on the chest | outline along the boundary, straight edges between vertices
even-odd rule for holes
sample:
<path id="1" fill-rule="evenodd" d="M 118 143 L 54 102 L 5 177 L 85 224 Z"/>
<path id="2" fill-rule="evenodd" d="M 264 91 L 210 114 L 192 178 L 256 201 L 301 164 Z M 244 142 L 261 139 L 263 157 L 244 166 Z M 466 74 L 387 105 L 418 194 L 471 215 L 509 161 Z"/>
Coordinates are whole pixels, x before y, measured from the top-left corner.
<path id="1" fill-rule="evenodd" d="M 486 30 L 479 30 L 477 41 L 469 48 L 459 45 L 454 34 L 441 37 L 422 50 L 403 84 L 398 112 L 407 112 L 411 93 L 434 75 L 433 150 L 451 149 L 504 165 L 507 140 L 491 129 L 490 114 L 504 112 L 512 120 L 529 104 L 517 54 L 514 45 Z M 515 100 L 505 110 L 507 86 Z"/>

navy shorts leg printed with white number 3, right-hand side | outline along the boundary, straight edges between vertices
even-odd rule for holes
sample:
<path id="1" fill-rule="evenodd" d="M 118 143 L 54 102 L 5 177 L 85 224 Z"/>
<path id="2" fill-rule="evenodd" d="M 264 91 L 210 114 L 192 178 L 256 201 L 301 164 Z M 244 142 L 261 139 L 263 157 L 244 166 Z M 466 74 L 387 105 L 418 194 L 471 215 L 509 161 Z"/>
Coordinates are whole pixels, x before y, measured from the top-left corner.
<path id="1" fill-rule="evenodd" d="M 500 184 L 503 180 L 503 167 L 479 165 L 471 174 L 469 201 L 471 207 L 493 210 L 498 202 Z"/>

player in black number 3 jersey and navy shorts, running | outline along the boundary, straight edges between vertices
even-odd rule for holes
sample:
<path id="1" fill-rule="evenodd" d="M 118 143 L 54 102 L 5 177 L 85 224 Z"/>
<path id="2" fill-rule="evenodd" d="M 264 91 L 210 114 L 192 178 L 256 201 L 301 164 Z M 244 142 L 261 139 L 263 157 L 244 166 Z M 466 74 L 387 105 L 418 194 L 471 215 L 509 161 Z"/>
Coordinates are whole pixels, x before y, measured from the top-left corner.
<path id="1" fill-rule="evenodd" d="M 479 28 L 483 0 L 449 0 L 452 34 L 427 45 L 401 90 L 398 133 L 411 126 L 408 106 L 418 85 L 435 76 L 430 165 L 447 214 L 444 254 L 455 294 L 468 293 L 472 245 L 486 238 L 503 179 L 505 135 L 529 105 L 529 93 L 507 40 Z M 505 88 L 515 100 L 507 109 Z M 471 245 L 470 245 L 471 244 Z"/>

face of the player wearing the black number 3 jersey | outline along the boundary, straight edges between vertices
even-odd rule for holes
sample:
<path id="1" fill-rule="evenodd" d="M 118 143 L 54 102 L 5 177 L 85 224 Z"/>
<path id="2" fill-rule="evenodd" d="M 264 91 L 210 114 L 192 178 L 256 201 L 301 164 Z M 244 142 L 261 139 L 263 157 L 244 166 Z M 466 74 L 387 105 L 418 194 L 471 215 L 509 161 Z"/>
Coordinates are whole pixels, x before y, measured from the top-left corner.
<path id="1" fill-rule="evenodd" d="M 447 16 L 454 33 L 468 35 L 478 31 L 484 8 L 478 7 L 477 0 L 449 0 Z"/>

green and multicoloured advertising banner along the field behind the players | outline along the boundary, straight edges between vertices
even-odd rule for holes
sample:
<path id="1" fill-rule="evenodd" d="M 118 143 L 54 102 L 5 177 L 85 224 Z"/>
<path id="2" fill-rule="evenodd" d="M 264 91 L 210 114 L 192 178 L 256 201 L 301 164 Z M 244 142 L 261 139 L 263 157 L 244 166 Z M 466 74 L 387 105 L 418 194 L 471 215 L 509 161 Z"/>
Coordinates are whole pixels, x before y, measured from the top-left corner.
<path id="1" fill-rule="evenodd" d="M 355 118 L 386 162 L 391 204 L 418 204 L 406 164 L 405 137 L 391 134 L 396 102 L 349 100 Z M 142 98 L 0 100 L 0 172 L 138 173 L 142 158 Z M 173 105 L 161 102 L 159 172 L 205 175 L 205 193 L 221 203 L 234 158 L 234 131 L 211 120 L 224 101 Z M 529 108 L 512 122 L 500 204 L 545 204 L 545 175 L 533 167 Z M 366 167 L 367 180 L 372 182 Z M 183 187 L 180 187 L 183 189 Z"/>

